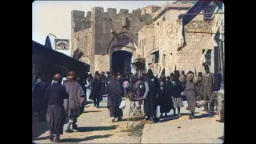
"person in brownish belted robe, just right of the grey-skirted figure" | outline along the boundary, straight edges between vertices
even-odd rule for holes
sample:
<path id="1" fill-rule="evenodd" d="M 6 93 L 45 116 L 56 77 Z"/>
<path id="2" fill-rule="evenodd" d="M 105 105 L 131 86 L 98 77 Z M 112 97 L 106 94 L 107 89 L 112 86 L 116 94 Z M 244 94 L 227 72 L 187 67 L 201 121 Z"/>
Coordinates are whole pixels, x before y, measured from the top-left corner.
<path id="1" fill-rule="evenodd" d="M 194 110 L 196 107 L 196 97 L 198 96 L 196 86 L 194 85 L 193 79 L 194 74 L 187 74 L 186 75 L 186 85 L 185 85 L 185 95 L 188 107 L 186 110 L 190 110 L 190 119 L 194 118 Z"/>

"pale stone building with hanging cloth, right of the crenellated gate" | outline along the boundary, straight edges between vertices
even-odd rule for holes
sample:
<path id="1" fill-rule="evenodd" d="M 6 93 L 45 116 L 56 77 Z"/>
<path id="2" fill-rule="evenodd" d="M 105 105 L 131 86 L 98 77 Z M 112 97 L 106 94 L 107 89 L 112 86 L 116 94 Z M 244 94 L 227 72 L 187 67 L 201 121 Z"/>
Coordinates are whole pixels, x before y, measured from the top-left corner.
<path id="1" fill-rule="evenodd" d="M 206 56 L 210 58 L 206 58 L 206 64 L 210 66 L 212 72 L 218 69 L 215 64 L 218 62 L 214 62 L 214 52 L 218 51 L 216 47 L 218 45 L 216 42 L 210 42 L 216 24 L 212 18 L 206 19 L 203 14 L 199 14 L 189 22 L 184 27 L 186 45 L 181 46 L 182 20 L 179 16 L 185 14 L 192 6 L 194 2 L 174 2 L 163 6 L 154 14 L 154 22 L 138 32 L 138 53 L 142 58 L 146 58 L 146 68 L 154 70 L 154 74 L 160 74 L 165 68 L 166 75 L 169 75 L 174 71 L 175 66 L 176 70 L 185 70 L 185 72 L 189 70 L 203 72 L 202 62 L 205 58 L 202 57 L 207 47 L 209 50 Z M 209 7 L 212 10 L 216 8 L 214 5 Z M 214 18 L 219 18 L 219 15 Z M 215 60 L 218 60 L 218 57 Z"/>

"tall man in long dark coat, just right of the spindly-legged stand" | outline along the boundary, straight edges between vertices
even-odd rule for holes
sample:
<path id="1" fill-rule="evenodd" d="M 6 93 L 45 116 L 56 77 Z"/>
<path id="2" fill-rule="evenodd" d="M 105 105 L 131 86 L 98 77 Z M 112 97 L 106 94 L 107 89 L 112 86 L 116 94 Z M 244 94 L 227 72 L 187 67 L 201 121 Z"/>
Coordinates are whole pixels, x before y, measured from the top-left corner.
<path id="1" fill-rule="evenodd" d="M 152 122 L 156 122 L 157 97 L 160 91 L 158 78 L 155 78 L 152 70 L 148 70 L 145 81 L 146 91 L 144 94 L 144 113 Z M 148 88 L 147 88 L 148 87 Z M 146 119 L 147 119 L 146 118 Z"/>

